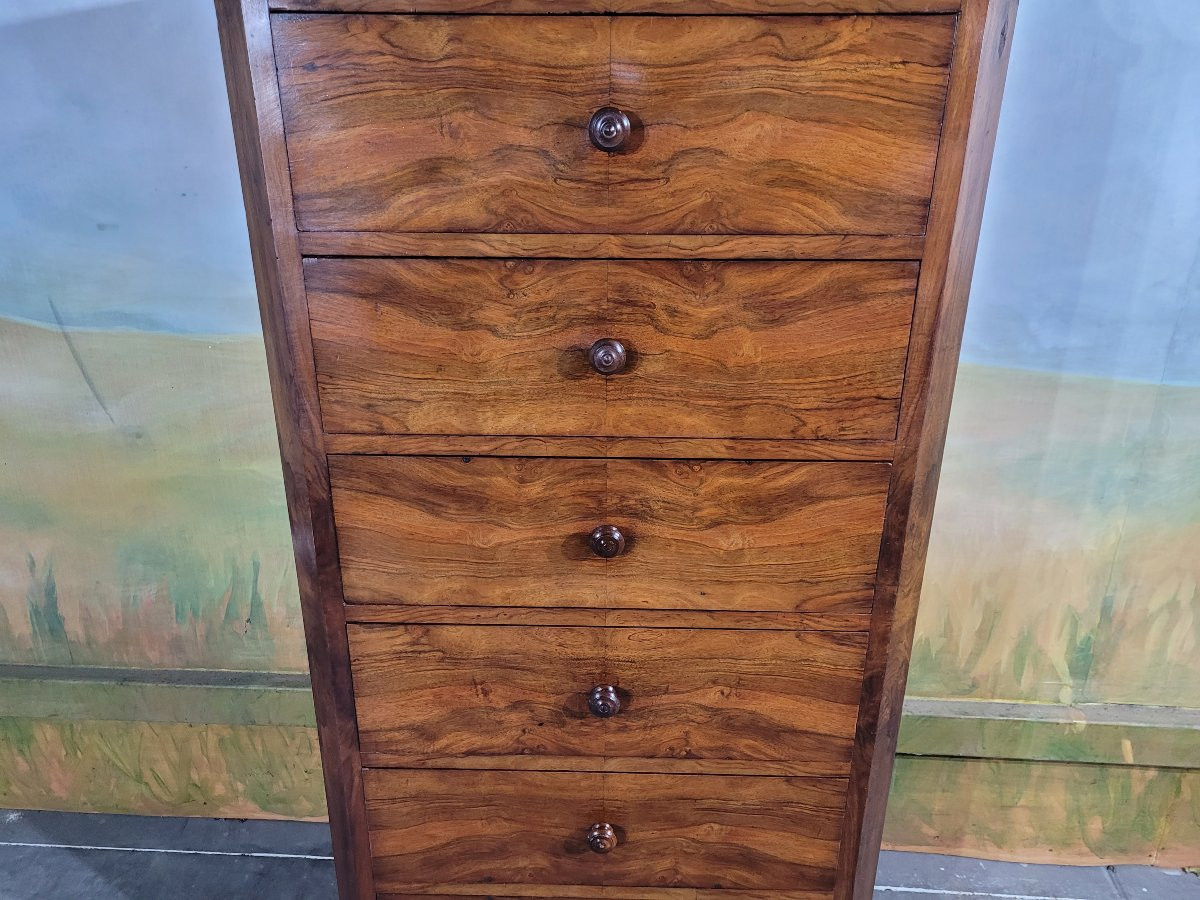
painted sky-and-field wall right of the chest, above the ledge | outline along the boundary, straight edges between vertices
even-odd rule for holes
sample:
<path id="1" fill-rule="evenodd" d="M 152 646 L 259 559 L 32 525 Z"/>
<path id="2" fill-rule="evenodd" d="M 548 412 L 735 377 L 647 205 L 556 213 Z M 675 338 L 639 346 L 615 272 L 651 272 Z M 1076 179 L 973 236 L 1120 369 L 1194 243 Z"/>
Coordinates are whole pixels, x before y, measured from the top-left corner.
<path id="1" fill-rule="evenodd" d="M 1027 0 L 910 692 L 1200 706 L 1200 23 Z"/>

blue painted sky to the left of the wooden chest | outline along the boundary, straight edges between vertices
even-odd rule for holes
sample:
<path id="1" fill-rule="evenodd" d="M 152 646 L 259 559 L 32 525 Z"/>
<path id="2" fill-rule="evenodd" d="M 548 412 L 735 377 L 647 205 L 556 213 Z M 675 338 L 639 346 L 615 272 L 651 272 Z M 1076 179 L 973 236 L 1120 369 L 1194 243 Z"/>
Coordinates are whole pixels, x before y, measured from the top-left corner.
<path id="1" fill-rule="evenodd" d="M 0 2 L 0 313 L 257 331 L 210 0 Z"/>

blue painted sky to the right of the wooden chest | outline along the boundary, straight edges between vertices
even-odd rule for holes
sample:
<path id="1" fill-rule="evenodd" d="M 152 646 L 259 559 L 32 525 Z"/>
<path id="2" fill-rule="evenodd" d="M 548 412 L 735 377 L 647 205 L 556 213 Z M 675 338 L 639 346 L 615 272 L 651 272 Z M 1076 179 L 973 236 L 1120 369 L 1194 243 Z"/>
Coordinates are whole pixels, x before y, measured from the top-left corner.
<path id="1" fill-rule="evenodd" d="M 1196 0 L 1021 0 L 964 356 L 1200 383 Z"/>

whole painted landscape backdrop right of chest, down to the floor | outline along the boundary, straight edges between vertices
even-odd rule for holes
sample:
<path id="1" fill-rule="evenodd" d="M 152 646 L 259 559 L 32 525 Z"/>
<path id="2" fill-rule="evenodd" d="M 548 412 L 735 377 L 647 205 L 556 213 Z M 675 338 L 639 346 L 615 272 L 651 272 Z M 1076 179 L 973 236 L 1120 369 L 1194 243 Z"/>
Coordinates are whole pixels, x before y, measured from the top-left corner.
<path id="1" fill-rule="evenodd" d="M 1194 13 L 1021 0 L 896 845 L 1200 865 Z"/>

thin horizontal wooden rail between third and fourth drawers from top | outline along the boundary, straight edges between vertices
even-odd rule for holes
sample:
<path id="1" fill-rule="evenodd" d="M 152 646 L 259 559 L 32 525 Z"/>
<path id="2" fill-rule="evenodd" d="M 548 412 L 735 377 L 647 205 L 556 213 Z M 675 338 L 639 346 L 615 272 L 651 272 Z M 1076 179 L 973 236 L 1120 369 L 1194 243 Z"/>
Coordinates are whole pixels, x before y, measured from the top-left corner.
<path id="1" fill-rule="evenodd" d="M 346 620 L 376 625 L 535 625 L 574 628 L 865 631 L 866 612 L 734 612 L 721 610 L 592 610 L 521 606 L 395 606 L 350 604 Z M 746 636 L 752 640 L 752 635 Z"/>

